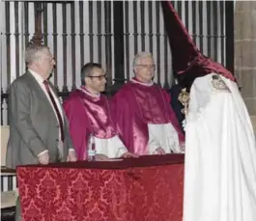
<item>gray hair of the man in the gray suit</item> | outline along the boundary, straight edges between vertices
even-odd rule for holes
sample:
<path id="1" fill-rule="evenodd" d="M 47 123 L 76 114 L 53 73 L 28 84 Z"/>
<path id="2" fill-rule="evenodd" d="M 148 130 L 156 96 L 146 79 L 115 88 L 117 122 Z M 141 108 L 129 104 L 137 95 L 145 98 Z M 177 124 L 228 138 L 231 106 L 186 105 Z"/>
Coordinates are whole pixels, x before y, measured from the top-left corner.
<path id="1" fill-rule="evenodd" d="M 32 63 L 38 61 L 42 54 L 45 53 L 46 50 L 49 50 L 49 47 L 45 45 L 31 44 L 26 48 L 25 53 L 25 62 L 26 65 L 31 65 Z"/>

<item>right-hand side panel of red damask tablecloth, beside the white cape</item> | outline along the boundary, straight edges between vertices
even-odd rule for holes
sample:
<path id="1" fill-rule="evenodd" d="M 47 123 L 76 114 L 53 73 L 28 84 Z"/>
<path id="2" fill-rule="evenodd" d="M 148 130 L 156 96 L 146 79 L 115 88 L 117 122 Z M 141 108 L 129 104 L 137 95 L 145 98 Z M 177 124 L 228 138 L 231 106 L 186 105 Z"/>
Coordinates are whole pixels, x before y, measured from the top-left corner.
<path id="1" fill-rule="evenodd" d="M 134 168 L 128 173 L 126 220 L 182 221 L 183 165 Z"/>

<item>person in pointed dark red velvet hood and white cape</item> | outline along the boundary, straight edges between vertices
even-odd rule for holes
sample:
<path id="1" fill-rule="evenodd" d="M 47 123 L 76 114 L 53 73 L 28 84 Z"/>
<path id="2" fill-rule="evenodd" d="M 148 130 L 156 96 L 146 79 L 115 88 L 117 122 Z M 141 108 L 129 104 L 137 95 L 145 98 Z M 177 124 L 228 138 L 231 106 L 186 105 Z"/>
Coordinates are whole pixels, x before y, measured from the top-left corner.
<path id="1" fill-rule="evenodd" d="M 255 137 L 236 79 L 201 54 L 171 3 L 162 9 L 173 69 L 189 91 L 183 220 L 255 221 Z"/>

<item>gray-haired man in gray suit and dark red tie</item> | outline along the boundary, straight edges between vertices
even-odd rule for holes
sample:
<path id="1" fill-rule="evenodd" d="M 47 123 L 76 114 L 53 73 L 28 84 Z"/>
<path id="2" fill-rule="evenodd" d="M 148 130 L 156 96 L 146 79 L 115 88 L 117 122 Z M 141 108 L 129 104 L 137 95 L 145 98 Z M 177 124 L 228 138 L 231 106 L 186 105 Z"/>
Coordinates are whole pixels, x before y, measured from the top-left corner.
<path id="1" fill-rule="evenodd" d="M 55 65 L 49 48 L 29 46 L 25 61 L 27 72 L 10 88 L 7 167 L 76 161 L 61 101 L 48 81 Z M 21 220 L 19 199 L 15 220 Z"/>

